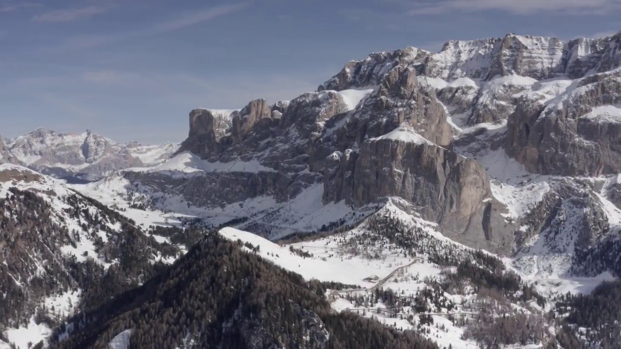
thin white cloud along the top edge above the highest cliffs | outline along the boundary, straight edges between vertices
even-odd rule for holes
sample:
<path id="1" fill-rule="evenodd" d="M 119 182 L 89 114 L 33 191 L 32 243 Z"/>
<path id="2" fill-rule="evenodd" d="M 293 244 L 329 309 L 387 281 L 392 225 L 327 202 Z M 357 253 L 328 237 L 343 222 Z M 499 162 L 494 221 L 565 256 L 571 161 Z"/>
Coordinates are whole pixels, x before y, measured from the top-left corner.
<path id="1" fill-rule="evenodd" d="M 621 8 L 621 0 L 414 0 L 409 4 L 414 6 L 409 14 L 415 16 L 483 10 L 513 14 L 533 14 L 540 11 L 612 14 L 610 11 Z"/>

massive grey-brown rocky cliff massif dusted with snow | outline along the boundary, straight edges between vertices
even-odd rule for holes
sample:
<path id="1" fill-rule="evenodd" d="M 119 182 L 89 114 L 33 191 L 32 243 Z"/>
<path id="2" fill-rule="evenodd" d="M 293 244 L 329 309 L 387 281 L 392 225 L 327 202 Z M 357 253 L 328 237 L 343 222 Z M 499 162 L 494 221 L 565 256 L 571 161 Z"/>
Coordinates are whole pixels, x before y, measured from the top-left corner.
<path id="1" fill-rule="evenodd" d="M 283 215 L 288 202 L 300 205 L 299 197 L 320 199 L 313 205 L 323 207 L 345 204 L 351 212 L 398 197 L 448 237 L 511 253 L 527 240 L 515 244 L 518 228 L 542 233 L 551 220 L 533 218 L 541 202 L 594 211 L 588 202 L 516 199 L 507 191 L 524 196 L 525 188 L 548 180 L 529 183 L 538 178 L 532 174 L 621 172 L 620 38 L 564 42 L 507 34 L 451 41 L 438 53 L 412 47 L 373 53 L 290 102 L 194 110 L 177 155 L 199 158 L 182 171 L 191 175 L 166 179 L 170 171 L 155 168 L 124 177 L 196 207 L 271 197 L 281 208 L 266 208 L 261 212 L 271 213 L 263 217 Z M 497 168 L 499 159 L 515 174 Z M 318 185 L 321 195 L 309 194 Z M 522 201 L 530 203 L 516 203 Z M 585 233 L 599 236 L 593 227 Z"/>

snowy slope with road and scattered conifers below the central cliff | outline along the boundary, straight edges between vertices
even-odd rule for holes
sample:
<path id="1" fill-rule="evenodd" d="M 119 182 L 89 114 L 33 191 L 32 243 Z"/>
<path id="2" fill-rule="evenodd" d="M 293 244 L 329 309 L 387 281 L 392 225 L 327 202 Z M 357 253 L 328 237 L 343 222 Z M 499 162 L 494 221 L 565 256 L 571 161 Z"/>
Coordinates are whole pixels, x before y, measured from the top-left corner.
<path id="1" fill-rule="evenodd" d="M 447 287 L 452 278 L 450 275 L 456 269 L 465 268 L 467 263 L 482 263 L 479 268 L 488 268 L 484 266 L 485 259 L 479 260 L 486 255 L 443 237 L 434 230 L 435 225 L 431 222 L 403 211 L 402 204 L 404 202 L 399 200 L 391 201 L 355 229 L 316 240 L 277 244 L 254 233 L 232 228 L 221 229 L 220 235 L 232 241 L 241 240 L 249 252 L 299 273 L 307 280 L 345 284 L 326 293 L 333 309 L 338 312 L 355 312 L 397 329 L 422 328 L 422 333 L 440 346 L 451 344 L 456 348 L 478 348 L 476 340 L 463 337 L 464 333 L 471 331 L 468 325 L 456 319 L 481 316 L 483 308 L 480 302 L 485 304 L 482 299 L 486 296 L 482 296 L 480 286 L 472 281 L 473 284 L 462 285 L 461 289 L 448 288 L 450 292 L 437 293 L 437 288 L 440 285 Z M 383 235 L 383 231 L 390 233 Z M 489 258 L 494 260 L 495 257 Z M 502 265 L 499 260 L 496 261 Z M 505 273 L 518 272 L 509 269 Z M 546 280 L 530 279 L 528 283 L 540 281 Z M 546 294 L 565 292 L 572 286 L 578 291 L 587 291 L 598 281 L 601 279 L 584 278 L 564 283 L 564 288 L 555 289 L 547 283 L 543 285 L 548 288 L 538 287 Z M 468 281 L 464 282 L 468 285 Z M 378 298 L 378 292 L 383 294 L 386 290 L 392 290 L 401 297 L 398 311 L 394 310 L 391 301 L 384 301 L 382 296 Z M 505 297 L 505 301 L 513 299 L 510 292 Z M 421 305 L 423 299 L 425 306 Z M 491 299 L 487 299 L 489 301 Z M 534 300 L 524 302 L 513 299 L 509 302 L 513 304 L 501 306 L 505 317 L 529 314 L 533 319 L 538 317 L 543 320 L 545 310 Z M 427 315 L 433 323 L 442 327 L 428 324 Z M 545 336 L 553 333 L 552 329 Z M 537 344 L 532 343 L 514 348 L 536 347 Z"/>

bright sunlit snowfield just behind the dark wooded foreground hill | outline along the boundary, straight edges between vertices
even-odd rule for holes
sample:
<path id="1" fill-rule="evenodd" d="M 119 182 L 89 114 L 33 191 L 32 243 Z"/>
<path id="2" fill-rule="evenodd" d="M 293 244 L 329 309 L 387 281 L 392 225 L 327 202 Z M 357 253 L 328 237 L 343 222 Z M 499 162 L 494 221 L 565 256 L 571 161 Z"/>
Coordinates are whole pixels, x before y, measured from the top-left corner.
<path id="1" fill-rule="evenodd" d="M 430 238 L 441 240 L 443 242 L 460 246 L 452 242 L 450 239 L 443 237 L 442 234 L 433 230 L 433 224 L 420 219 L 414 219 L 406 212 L 401 211 L 392 204 L 392 201 L 384 207 L 381 212 L 383 214 L 391 212 L 397 219 L 402 220 L 406 224 L 416 225 L 425 230 Z M 385 308 L 383 304 L 378 303 L 366 309 L 355 308 L 353 304 L 343 298 L 345 293 L 364 295 L 369 290 L 382 287 L 390 288 L 399 293 L 414 294 L 419 289 L 425 288 L 425 278 L 438 278 L 442 267 L 428 263 L 425 256 L 403 257 L 399 253 L 391 252 L 389 246 L 379 248 L 380 255 L 378 258 L 365 258 L 365 256 L 352 254 L 347 248 L 340 245 L 340 241 L 347 240 L 359 233 L 362 233 L 364 227 L 350 230 L 349 232 L 340 233 L 332 237 L 321 238 L 319 240 L 292 243 L 290 245 L 280 246 L 270 242 L 265 238 L 241 230 L 224 228 L 220 230 L 220 234 L 232 241 L 242 240 L 242 242 L 250 242 L 254 247 L 259 247 L 258 253 L 265 260 L 271 261 L 287 270 L 301 274 L 306 279 L 318 279 L 320 281 L 336 281 L 345 284 L 358 285 L 360 289 L 345 291 L 328 291 L 332 308 L 338 312 L 351 311 L 361 316 L 378 320 L 379 322 L 396 327 L 397 329 L 413 329 L 414 326 L 407 320 L 398 317 L 389 317 L 385 313 L 377 313 L 376 309 Z M 311 253 L 312 257 L 301 257 L 292 253 L 289 247 L 293 247 L 304 252 Z M 469 250 L 467 247 L 458 247 Z M 248 250 L 250 251 L 250 250 Z M 373 280 L 369 279 L 373 278 Z M 453 296 L 450 296 L 453 297 Z M 457 296 L 458 301 L 461 300 Z M 451 314 L 459 314 L 460 310 L 454 310 Z M 446 318 L 448 312 L 442 314 L 433 314 L 432 317 L 436 324 L 443 324 L 447 331 L 440 330 L 435 325 L 424 325 L 425 329 L 430 333 L 424 332 L 424 335 L 435 341 L 441 347 L 451 343 L 454 348 L 478 348 L 478 345 L 471 341 L 461 339 L 463 329 L 453 326 L 450 320 Z M 417 320 L 415 320 L 417 321 Z"/>

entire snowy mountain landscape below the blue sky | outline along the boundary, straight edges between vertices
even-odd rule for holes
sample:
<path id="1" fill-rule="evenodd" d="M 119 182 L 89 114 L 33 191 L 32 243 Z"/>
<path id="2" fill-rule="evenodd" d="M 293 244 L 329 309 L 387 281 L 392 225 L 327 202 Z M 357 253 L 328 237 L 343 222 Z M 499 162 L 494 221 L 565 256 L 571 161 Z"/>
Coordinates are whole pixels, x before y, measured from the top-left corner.
<path id="1" fill-rule="evenodd" d="M 181 144 L 0 163 L 2 349 L 621 347 L 621 32 L 372 53 Z"/>

